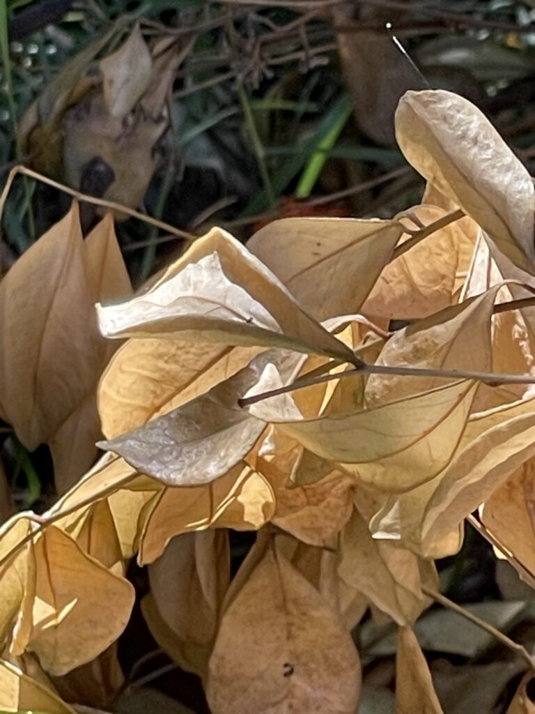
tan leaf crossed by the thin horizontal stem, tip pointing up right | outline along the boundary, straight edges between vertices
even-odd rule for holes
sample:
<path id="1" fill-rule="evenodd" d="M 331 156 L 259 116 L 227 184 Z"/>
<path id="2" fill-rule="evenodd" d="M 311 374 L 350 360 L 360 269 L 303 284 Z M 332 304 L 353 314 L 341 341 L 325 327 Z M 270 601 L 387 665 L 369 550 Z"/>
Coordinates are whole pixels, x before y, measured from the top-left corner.
<path id="1" fill-rule="evenodd" d="M 399 330 L 385 343 L 377 364 L 493 371 L 491 317 L 499 286 Z M 370 374 L 365 400 L 375 406 L 444 385 L 444 378 Z"/>

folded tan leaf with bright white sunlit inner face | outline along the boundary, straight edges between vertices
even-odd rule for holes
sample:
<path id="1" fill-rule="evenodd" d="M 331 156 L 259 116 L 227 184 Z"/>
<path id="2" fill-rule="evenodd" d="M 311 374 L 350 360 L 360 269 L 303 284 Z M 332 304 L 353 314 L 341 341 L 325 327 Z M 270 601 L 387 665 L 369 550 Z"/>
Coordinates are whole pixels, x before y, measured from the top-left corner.
<path id="1" fill-rule="evenodd" d="M 107 337 L 180 337 L 352 359 L 258 258 L 219 228 L 198 238 L 144 295 L 97 307 Z"/>

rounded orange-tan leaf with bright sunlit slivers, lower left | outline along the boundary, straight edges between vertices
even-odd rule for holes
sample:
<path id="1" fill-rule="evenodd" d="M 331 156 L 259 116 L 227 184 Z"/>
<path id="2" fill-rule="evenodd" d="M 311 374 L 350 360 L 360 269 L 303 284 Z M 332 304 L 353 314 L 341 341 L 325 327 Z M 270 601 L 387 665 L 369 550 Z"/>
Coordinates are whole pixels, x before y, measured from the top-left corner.
<path id="1" fill-rule="evenodd" d="M 134 590 L 55 526 L 36 537 L 34 550 L 36 599 L 29 649 L 46 671 L 62 675 L 118 638 L 130 617 Z"/>

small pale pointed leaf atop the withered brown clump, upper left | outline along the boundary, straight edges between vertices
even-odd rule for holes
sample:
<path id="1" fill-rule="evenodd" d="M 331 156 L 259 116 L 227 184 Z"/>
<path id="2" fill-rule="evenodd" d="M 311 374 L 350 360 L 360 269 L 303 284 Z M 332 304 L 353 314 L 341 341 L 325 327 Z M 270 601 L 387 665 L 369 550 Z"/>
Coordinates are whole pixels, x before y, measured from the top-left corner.
<path id="1" fill-rule="evenodd" d="M 139 24 L 116 52 L 101 60 L 100 66 L 106 107 L 111 116 L 123 119 L 130 114 L 151 81 L 151 53 Z"/>

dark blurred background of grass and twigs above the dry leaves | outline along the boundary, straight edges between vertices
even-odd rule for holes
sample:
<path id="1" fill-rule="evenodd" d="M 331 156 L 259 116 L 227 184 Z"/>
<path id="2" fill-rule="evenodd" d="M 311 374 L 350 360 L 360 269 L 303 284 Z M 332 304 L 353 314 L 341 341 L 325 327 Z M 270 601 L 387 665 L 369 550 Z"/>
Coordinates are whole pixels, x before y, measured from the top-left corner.
<path id="1" fill-rule="evenodd" d="M 195 233 L 217 222 L 243 239 L 293 213 L 391 216 L 422 191 L 393 134 L 407 89 L 467 96 L 531 166 L 534 19 L 531 1 L 514 0 L 1 0 L 0 181 L 17 161 L 95 195 L 109 197 L 109 182 L 122 181 L 119 195 L 134 208 Z M 126 145 L 122 172 L 94 162 L 72 169 L 95 130 L 81 116 L 92 111 L 88 78 L 136 23 L 151 49 L 173 42 L 176 51 L 165 131 L 140 139 L 151 179 L 141 202 L 128 193 L 129 174 L 143 171 L 138 145 Z M 63 93 L 77 88 L 68 99 L 51 95 L 58 78 Z M 36 99 L 39 117 L 29 117 Z M 39 123 L 46 160 L 28 131 Z M 55 189 L 17 181 L 4 211 L 4 264 L 66 204 Z M 136 284 L 181 248 L 140 221 L 118 233 Z"/>

